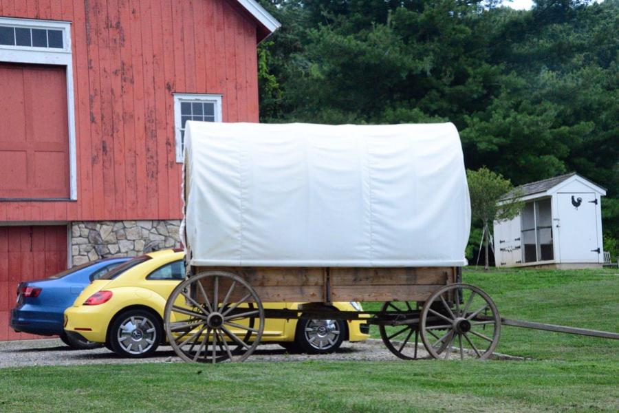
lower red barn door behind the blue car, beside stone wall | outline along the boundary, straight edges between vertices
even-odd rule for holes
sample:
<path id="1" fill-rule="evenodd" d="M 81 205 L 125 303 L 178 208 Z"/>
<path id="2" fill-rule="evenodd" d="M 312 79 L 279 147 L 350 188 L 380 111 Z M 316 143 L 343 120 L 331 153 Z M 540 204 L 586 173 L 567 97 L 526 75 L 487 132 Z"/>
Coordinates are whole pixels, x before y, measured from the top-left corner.
<path id="1" fill-rule="evenodd" d="M 35 338 L 9 328 L 17 284 L 67 268 L 67 226 L 0 226 L 0 341 Z"/>

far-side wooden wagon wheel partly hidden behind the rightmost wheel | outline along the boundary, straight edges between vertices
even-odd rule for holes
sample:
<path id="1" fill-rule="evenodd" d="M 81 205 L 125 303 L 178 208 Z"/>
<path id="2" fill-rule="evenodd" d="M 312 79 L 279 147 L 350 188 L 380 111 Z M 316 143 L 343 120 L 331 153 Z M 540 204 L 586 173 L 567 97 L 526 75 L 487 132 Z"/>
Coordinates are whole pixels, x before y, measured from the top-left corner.
<path id="1" fill-rule="evenodd" d="M 381 311 L 391 314 L 406 314 L 418 313 L 419 303 L 417 301 L 387 301 L 382 304 Z M 419 357 L 417 350 L 419 348 L 419 323 L 406 324 L 402 326 L 378 326 L 380 330 L 380 338 L 387 349 L 404 360 L 427 359 L 428 357 Z M 442 348 L 437 352 L 442 352 L 447 347 L 444 343 Z"/>

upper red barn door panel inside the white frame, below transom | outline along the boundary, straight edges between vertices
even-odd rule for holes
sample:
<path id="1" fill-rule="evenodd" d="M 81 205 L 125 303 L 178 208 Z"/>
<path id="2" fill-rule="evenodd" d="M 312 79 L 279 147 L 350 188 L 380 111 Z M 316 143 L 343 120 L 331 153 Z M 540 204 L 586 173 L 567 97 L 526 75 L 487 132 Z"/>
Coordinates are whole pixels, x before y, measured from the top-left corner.
<path id="1" fill-rule="evenodd" d="M 66 76 L 0 62 L 0 198 L 69 198 Z"/>

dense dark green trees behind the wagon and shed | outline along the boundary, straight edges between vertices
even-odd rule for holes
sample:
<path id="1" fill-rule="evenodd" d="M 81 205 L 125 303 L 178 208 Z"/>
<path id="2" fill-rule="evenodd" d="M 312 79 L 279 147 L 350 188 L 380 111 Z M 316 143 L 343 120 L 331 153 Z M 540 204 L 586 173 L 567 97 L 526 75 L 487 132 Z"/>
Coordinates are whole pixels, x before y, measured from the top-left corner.
<path id="1" fill-rule="evenodd" d="M 619 239 L 619 0 L 263 0 L 261 120 L 453 122 L 466 166 L 608 189 Z"/>

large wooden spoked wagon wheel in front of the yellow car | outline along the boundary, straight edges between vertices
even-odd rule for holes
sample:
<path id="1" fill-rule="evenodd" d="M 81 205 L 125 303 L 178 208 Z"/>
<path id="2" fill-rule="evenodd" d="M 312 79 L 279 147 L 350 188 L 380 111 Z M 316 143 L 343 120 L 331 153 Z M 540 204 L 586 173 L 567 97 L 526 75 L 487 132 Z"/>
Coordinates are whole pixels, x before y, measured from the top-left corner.
<path id="1" fill-rule="evenodd" d="M 197 363 L 247 359 L 264 329 L 256 291 L 241 277 L 221 271 L 200 273 L 179 284 L 166 302 L 164 317 L 176 354 Z"/>

